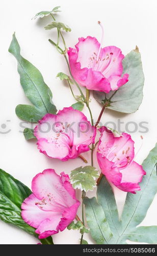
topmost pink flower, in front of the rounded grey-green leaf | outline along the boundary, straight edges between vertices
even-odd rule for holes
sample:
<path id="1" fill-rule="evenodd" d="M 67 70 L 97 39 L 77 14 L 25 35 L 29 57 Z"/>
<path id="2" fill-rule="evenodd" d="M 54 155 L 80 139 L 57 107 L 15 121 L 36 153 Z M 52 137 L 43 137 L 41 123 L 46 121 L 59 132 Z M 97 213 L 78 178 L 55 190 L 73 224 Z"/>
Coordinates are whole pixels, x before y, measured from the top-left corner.
<path id="1" fill-rule="evenodd" d="M 69 48 L 69 65 L 77 83 L 89 90 L 109 93 L 128 81 L 122 77 L 124 55 L 116 46 L 101 48 L 95 37 L 79 38 L 76 49 Z"/>

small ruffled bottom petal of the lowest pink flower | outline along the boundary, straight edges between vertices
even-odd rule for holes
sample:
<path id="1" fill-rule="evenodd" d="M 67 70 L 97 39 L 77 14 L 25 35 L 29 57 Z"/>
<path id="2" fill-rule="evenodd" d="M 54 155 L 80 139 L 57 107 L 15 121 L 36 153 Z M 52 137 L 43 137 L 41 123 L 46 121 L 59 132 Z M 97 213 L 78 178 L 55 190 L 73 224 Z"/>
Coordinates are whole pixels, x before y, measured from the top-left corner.
<path id="1" fill-rule="evenodd" d="M 51 219 L 43 220 L 35 231 L 37 234 L 39 234 L 39 239 L 44 239 L 58 233 L 57 226 L 61 220 L 61 217 L 61 214 L 57 214 L 53 215 L 53 218 Z"/>

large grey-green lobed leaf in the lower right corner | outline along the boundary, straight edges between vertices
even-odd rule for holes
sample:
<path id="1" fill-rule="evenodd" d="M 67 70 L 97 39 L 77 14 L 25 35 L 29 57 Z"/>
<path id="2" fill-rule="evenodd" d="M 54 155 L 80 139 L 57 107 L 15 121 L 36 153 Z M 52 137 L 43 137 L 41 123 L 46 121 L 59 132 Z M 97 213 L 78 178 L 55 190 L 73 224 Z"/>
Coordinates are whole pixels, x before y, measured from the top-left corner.
<path id="1" fill-rule="evenodd" d="M 157 143 L 150 151 L 142 166 L 146 171 L 140 183 L 141 190 L 137 194 L 127 193 L 121 220 L 112 188 L 105 177 L 98 185 L 97 199 L 86 198 L 86 218 L 90 233 L 96 243 L 126 244 L 126 240 L 144 243 L 157 243 L 157 226 L 139 226 L 145 218 L 147 210 L 157 192 Z M 107 241 L 102 219 L 110 226 L 113 237 Z M 101 220 L 101 223 L 100 223 Z M 97 232 L 95 232 L 97 230 Z"/>

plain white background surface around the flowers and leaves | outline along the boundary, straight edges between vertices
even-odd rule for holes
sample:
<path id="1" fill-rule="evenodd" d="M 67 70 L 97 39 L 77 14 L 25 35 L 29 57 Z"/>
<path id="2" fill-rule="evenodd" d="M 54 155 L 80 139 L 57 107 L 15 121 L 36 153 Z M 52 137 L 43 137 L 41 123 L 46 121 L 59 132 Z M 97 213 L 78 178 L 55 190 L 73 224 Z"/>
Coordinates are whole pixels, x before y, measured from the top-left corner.
<path id="1" fill-rule="evenodd" d="M 31 61 L 42 73 L 45 82 L 53 91 L 54 102 L 58 109 L 70 106 L 74 103 L 69 88 L 56 78 L 58 72 L 68 73 L 64 59 L 56 49 L 50 45 L 48 38 L 56 40 L 56 31 L 45 31 L 44 26 L 50 21 L 50 17 L 40 20 L 31 20 L 39 11 L 51 10 L 55 6 L 61 6 L 62 12 L 57 19 L 65 22 L 72 29 L 65 33 L 68 47 L 73 47 L 78 37 L 88 35 L 101 38 L 101 30 L 97 25 L 100 20 L 104 26 L 104 45 L 115 45 L 121 48 L 123 54 L 127 54 L 138 45 L 142 55 L 143 70 L 145 74 L 144 98 L 139 110 L 130 115 L 118 114 L 118 112 L 106 111 L 102 121 L 114 121 L 120 118 L 124 122 L 122 130 L 128 121 L 148 122 L 149 132 L 142 134 L 144 137 L 143 147 L 136 161 L 142 163 L 156 142 L 156 8 L 155 0 L 6 0 L 1 1 L 1 98 L 0 98 L 0 132 L 11 132 L 4 135 L 0 133 L 0 167 L 24 184 L 31 187 L 32 178 L 46 168 L 55 168 L 57 173 L 70 170 L 83 165 L 80 159 L 69 160 L 66 163 L 59 160 L 46 158 L 37 150 L 35 141 L 25 141 L 19 127 L 20 120 L 15 114 L 17 104 L 29 103 L 20 86 L 15 58 L 8 52 L 8 48 L 15 31 L 21 47 L 21 54 Z M 77 94 L 77 92 L 75 92 Z M 92 97 L 91 97 L 92 98 Z M 91 109 L 96 121 L 101 106 L 92 98 Z M 88 111 L 84 113 L 89 117 Z M 8 122 L 7 120 L 10 120 Z M 1 127 L 6 124 L 6 129 Z M 130 130 L 134 126 L 130 126 Z M 140 147 L 141 139 L 139 132 L 132 133 L 135 140 L 136 151 Z M 90 153 L 85 153 L 88 158 Z M 90 164 L 90 159 L 89 159 Z M 97 166 L 96 159 L 94 165 Z M 88 194 L 93 195 L 92 193 Z M 80 198 L 80 191 L 77 191 Z M 122 198 L 125 193 L 117 193 L 119 210 L 122 210 Z M 149 195 L 148 195 L 149 196 Z M 157 198 L 155 198 L 143 225 L 157 225 Z M 79 214 L 81 216 L 81 214 Z M 37 239 L 0 221 L 1 244 L 36 244 Z M 55 234 L 54 242 L 61 244 L 79 243 L 80 233 L 68 231 Z M 93 243 L 89 235 L 85 235 L 89 243 Z"/>

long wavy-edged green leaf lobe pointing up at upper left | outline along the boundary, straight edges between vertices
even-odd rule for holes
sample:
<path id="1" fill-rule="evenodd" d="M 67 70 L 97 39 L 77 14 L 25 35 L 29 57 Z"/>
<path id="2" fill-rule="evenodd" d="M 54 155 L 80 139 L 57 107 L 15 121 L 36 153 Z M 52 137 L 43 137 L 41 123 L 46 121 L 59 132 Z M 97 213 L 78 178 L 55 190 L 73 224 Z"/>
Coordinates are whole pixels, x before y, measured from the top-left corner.
<path id="1" fill-rule="evenodd" d="M 17 59 L 21 86 L 25 95 L 35 107 L 35 109 L 32 107 L 33 114 L 35 114 L 35 119 L 37 119 L 37 115 L 39 115 L 40 119 L 41 116 L 44 116 L 47 113 L 56 114 L 57 109 L 51 100 L 52 93 L 50 89 L 45 84 L 40 71 L 20 55 L 20 46 L 15 37 L 15 33 L 13 34 L 9 52 L 12 53 Z M 27 106 L 25 111 L 26 119 L 30 115 L 30 109 L 31 106 Z M 22 118 L 24 118 L 24 113 L 22 113 Z"/>

